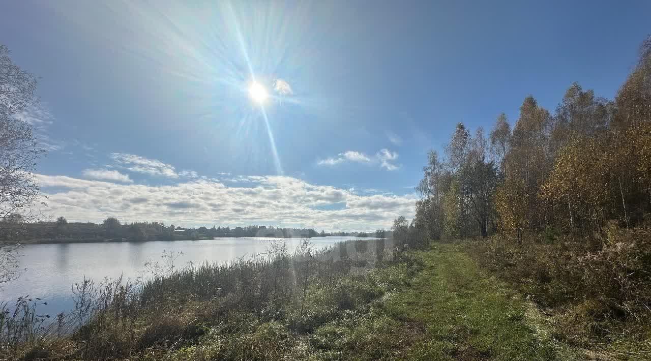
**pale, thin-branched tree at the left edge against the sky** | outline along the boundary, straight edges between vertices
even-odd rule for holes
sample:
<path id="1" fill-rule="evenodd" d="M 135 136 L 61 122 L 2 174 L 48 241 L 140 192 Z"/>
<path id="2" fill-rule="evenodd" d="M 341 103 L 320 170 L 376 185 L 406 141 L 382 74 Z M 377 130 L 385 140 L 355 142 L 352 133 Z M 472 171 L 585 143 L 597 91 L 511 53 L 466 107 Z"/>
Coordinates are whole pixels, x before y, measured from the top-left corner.
<path id="1" fill-rule="evenodd" d="M 33 206 L 42 204 L 34 173 L 44 154 L 31 124 L 18 116 L 38 103 L 36 78 L 9 55 L 9 49 L 0 45 L 0 283 L 16 276 L 21 226 L 36 217 Z"/>

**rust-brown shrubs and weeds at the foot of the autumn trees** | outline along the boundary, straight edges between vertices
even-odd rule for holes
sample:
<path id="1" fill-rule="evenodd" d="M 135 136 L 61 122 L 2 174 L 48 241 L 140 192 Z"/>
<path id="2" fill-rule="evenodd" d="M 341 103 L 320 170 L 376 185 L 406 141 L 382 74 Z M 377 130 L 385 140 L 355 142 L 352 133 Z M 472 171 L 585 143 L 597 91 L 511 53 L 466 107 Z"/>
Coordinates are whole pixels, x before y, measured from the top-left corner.
<path id="1" fill-rule="evenodd" d="M 589 319 L 592 325 L 609 323 L 594 328 L 594 336 L 604 336 L 617 325 L 650 326 L 651 230 L 611 224 L 596 252 L 589 243 L 555 239 L 551 245 L 518 247 L 495 237 L 473 242 L 468 249 L 538 304 L 574 314 L 575 320 Z"/>

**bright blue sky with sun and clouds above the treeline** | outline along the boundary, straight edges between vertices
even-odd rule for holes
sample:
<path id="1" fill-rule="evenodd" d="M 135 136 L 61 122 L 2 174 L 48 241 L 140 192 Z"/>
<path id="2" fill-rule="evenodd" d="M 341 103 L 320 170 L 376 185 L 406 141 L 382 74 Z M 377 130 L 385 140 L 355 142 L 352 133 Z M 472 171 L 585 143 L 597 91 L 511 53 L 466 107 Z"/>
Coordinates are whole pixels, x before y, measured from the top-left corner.
<path id="1" fill-rule="evenodd" d="M 651 32 L 648 1 L 3 8 L 0 43 L 42 78 L 46 213 L 186 225 L 388 227 L 456 122 L 553 110 L 572 81 L 613 98 Z"/>

